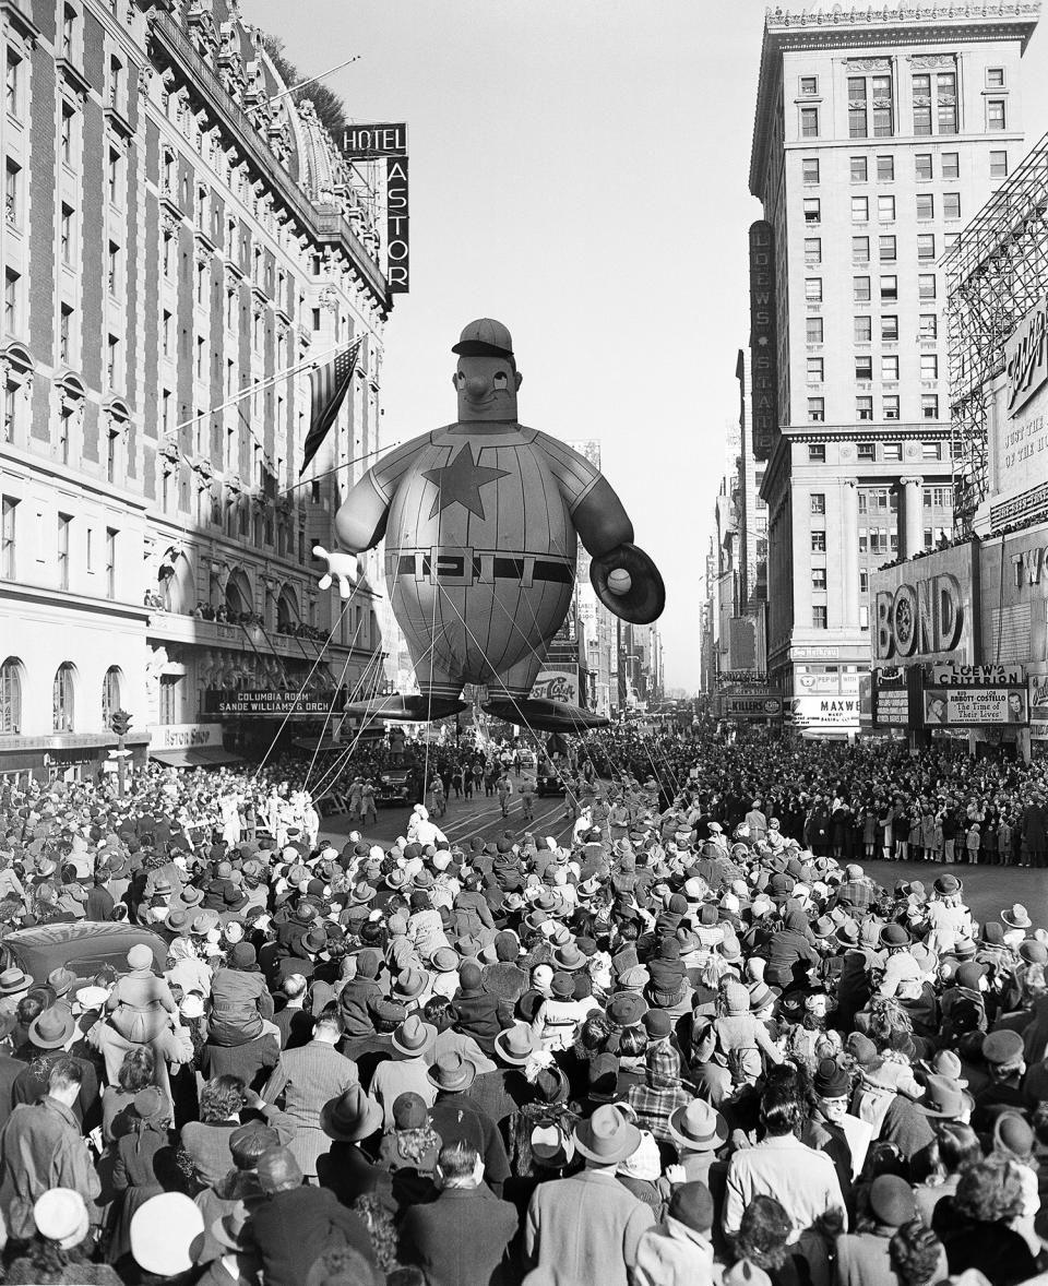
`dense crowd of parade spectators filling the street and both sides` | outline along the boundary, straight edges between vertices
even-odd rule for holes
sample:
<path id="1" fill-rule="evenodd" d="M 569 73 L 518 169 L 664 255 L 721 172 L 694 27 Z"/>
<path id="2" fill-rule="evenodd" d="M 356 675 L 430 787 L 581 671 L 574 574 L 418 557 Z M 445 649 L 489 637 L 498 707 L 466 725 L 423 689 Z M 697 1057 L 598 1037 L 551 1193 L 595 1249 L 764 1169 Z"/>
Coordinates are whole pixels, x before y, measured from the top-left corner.
<path id="1" fill-rule="evenodd" d="M 1036 1280 L 1048 930 L 862 865 L 867 810 L 881 856 L 925 802 L 1043 863 L 1036 769 L 712 728 L 575 759 L 566 846 L 422 804 L 325 842 L 289 763 L 0 786 L 4 1280 Z M 68 944 L 44 976 L 24 928 Z"/>

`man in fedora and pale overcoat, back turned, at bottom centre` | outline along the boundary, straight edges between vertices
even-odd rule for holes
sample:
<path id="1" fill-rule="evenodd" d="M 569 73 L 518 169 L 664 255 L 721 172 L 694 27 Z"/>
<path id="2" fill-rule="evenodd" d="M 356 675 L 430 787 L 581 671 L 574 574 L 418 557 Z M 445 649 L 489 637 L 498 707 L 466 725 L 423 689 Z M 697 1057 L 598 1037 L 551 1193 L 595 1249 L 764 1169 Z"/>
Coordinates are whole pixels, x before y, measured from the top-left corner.
<path id="1" fill-rule="evenodd" d="M 640 1130 L 611 1103 L 597 1107 L 572 1136 L 585 1169 L 540 1183 L 525 1220 L 529 1263 L 572 1282 L 629 1286 L 637 1247 L 653 1226 L 652 1208 L 616 1179 L 640 1147 Z"/>

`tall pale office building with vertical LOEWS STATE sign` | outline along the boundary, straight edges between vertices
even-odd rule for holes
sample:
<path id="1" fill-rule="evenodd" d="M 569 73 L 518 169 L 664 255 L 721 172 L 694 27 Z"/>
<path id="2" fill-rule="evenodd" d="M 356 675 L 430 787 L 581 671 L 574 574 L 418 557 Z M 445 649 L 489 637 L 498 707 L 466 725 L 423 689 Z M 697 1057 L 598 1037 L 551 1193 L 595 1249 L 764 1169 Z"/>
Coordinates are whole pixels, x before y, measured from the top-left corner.
<path id="1" fill-rule="evenodd" d="M 940 258 L 1024 154 L 1021 58 L 1039 9 L 768 13 L 751 264 L 756 240 L 772 294 L 760 374 L 777 405 L 770 426 L 755 415 L 754 453 L 768 664 L 787 694 L 827 674 L 850 694 L 869 666 L 871 571 L 952 530 Z M 855 727 L 858 701 L 833 724 Z"/>

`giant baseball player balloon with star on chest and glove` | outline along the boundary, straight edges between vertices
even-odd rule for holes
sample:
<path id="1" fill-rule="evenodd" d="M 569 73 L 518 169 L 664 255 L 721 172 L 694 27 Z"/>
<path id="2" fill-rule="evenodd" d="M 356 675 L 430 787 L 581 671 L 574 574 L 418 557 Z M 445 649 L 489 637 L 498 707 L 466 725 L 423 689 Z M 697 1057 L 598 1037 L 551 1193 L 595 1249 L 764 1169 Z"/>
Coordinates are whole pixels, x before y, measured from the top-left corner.
<path id="1" fill-rule="evenodd" d="M 661 615 L 662 577 L 601 471 L 517 421 L 522 377 L 509 331 L 471 322 L 451 351 L 458 419 L 370 468 L 336 514 L 341 549 L 314 550 L 328 561 L 321 588 L 337 577 L 345 597 L 355 556 L 384 538 L 393 615 L 415 669 L 418 696 L 350 712 L 437 719 L 465 709 L 469 683 L 487 688 L 485 710 L 512 723 L 597 727 L 604 720 L 529 696 L 571 606 L 577 541 L 597 594 L 622 620 Z"/>

